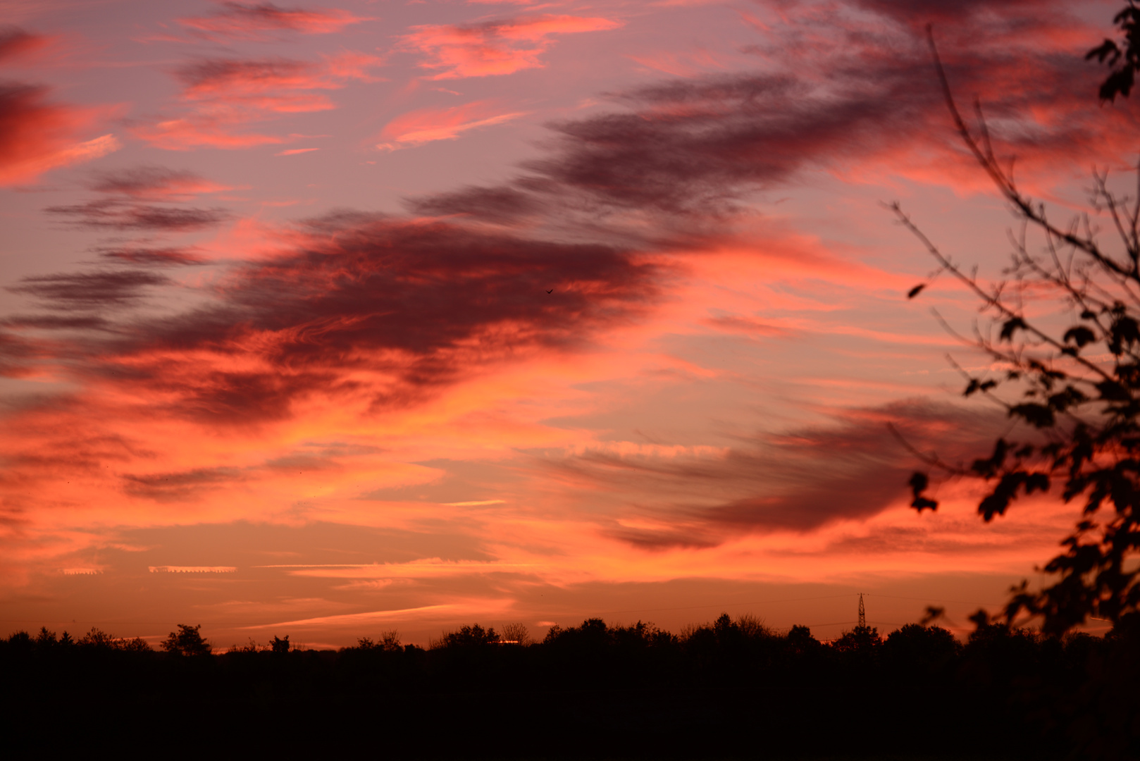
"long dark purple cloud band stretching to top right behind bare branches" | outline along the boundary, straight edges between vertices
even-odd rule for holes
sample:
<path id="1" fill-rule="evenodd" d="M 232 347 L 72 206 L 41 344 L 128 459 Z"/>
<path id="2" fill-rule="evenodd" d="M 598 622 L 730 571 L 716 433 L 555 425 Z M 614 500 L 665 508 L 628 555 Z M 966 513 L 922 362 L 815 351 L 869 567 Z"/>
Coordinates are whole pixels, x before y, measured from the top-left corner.
<path id="1" fill-rule="evenodd" d="M 880 5 L 868 8 L 898 18 L 910 8 Z M 995 151 L 1017 156 L 1027 189 L 1052 181 L 1047 178 L 1057 177 L 1059 160 L 1123 162 L 1140 126 L 1134 111 L 1088 108 L 1099 71 L 1078 55 L 1086 42 L 1034 38 L 1033 47 L 1019 37 L 1025 24 L 1039 24 L 1039 10 L 1003 6 L 1001 18 L 978 16 L 972 31 L 961 32 L 983 35 L 985 46 L 947 42 L 943 49 L 955 91 L 980 94 Z M 621 110 L 553 123 L 555 139 L 512 180 L 414 199 L 409 208 L 505 225 L 532 225 L 537 211 L 548 210 L 563 230 L 612 236 L 625 225 L 642 240 L 652 230 L 649 240 L 660 245 L 723 236 L 730 222 L 755 213 L 756 192 L 793 185 L 812 171 L 857 183 L 902 176 L 988 189 L 959 151 L 923 39 L 883 17 L 839 14 L 821 22 L 815 13 L 789 6 L 788 29 L 758 46 L 771 64 L 760 72 L 611 94 Z M 1051 29 L 1072 21 L 1064 10 L 1050 18 Z M 805 25 L 829 42 L 805 38 Z"/>

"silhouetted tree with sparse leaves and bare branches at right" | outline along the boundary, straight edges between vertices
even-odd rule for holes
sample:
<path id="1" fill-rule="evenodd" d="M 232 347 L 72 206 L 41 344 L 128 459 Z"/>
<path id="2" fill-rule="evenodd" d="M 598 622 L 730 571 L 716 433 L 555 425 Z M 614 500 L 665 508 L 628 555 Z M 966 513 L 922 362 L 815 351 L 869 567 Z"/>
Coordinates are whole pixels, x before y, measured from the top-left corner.
<path id="1" fill-rule="evenodd" d="M 1130 40 L 1127 66 L 1134 60 L 1138 13 L 1130 0 L 1117 16 Z M 1021 193 L 994 154 L 980 105 L 975 127 L 967 126 L 929 29 L 928 35 L 961 139 L 1023 224 L 1021 234 L 1011 236 L 1015 251 L 1007 278 L 983 281 L 976 269 L 968 272 L 944 254 L 897 203 L 891 209 L 938 262 L 937 273 L 963 284 L 991 319 L 988 332 L 975 329 L 967 342 L 1003 371 L 962 371 L 964 396 L 997 402 L 1010 419 L 1023 423 L 1023 434 L 1016 442 L 999 438 L 990 454 L 969 465 L 915 453 L 945 473 L 984 480 L 988 493 L 978 512 L 987 523 L 1004 515 L 1019 496 L 1047 492 L 1058 480 L 1061 499 L 1084 502 L 1081 519 L 1062 542 L 1065 551 L 1044 566 L 1056 583 L 1040 591 L 1026 582 L 1012 589 L 1000 618 L 1003 624 L 1026 615 L 1041 617 L 1044 631 L 1062 633 L 1089 616 L 1118 622 L 1140 605 L 1134 562 L 1140 551 L 1140 199 L 1117 195 L 1109 188 L 1107 172 L 1094 171 L 1089 210 L 1067 226 L 1056 225 L 1044 204 Z M 1110 55 L 1109 59 L 1115 62 Z M 1114 76 L 1106 82 L 1107 91 L 1126 96 L 1131 80 Z M 1098 214 L 1112 224 L 1118 237 L 1115 245 L 1099 240 L 1091 221 Z M 1042 254 L 1031 250 L 1028 230 L 1042 238 Z M 928 285 L 929 281 L 915 286 L 909 298 Z M 1067 302 L 1072 316 L 1053 329 L 1041 313 L 1048 300 L 1057 298 Z M 927 472 L 914 473 L 910 486 L 914 509 L 920 513 L 937 509 L 937 501 L 927 494 Z M 984 612 L 975 617 L 979 625 L 988 620 Z"/>

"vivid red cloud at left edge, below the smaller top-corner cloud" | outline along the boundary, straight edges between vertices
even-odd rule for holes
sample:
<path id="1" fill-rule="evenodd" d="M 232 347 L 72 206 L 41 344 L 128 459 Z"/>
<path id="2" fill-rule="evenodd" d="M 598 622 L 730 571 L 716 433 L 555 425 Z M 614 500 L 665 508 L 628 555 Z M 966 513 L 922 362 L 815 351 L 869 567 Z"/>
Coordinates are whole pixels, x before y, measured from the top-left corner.
<path id="1" fill-rule="evenodd" d="M 50 169 L 121 147 L 113 135 L 76 140 L 92 112 L 50 104 L 47 94 L 43 87 L 0 84 L 0 186 L 30 181 Z"/>

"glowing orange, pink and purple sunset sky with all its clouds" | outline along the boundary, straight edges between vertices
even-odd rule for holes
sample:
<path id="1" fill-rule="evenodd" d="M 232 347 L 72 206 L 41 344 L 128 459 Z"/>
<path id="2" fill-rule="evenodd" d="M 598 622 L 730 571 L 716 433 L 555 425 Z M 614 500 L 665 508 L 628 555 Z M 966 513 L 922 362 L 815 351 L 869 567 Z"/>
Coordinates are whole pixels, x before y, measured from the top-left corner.
<path id="1" fill-rule="evenodd" d="M 1001 276 L 927 24 L 1053 218 L 1129 183 L 1119 3 L 0 5 L 0 632 L 964 633 L 1075 520 L 909 507 L 1019 432 L 883 204 Z"/>

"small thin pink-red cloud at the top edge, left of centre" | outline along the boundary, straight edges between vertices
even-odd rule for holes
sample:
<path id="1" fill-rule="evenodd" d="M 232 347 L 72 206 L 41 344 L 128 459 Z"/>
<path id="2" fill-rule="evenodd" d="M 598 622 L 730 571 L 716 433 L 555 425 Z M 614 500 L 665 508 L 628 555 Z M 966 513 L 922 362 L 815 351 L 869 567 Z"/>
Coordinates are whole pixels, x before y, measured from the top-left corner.
<path id="1" fill-rule="evenodd" d="M 220 10 L 209 16 L 189 16 L 178 21 L 210 38 L 266 40 L 272 39 L 272 32 L 331 34 L 350 24 L 370 19 L 336 8 L 304 10 L 279 8 L 270 2 L 223 2 Z"/>

